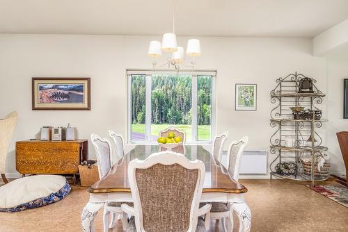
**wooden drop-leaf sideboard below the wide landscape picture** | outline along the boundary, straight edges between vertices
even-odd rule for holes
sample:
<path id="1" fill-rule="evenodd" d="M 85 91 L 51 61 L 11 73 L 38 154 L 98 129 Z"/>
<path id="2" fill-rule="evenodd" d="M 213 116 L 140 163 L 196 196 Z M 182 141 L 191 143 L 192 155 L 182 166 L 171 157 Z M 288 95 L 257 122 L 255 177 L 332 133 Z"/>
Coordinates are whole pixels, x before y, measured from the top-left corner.
<path id="1" fill-rule="evenodd" d="M 88 159 L 88 140 L 16 142 L 20 174 L 72 174 L 76 184 L 79 164 Z"/>

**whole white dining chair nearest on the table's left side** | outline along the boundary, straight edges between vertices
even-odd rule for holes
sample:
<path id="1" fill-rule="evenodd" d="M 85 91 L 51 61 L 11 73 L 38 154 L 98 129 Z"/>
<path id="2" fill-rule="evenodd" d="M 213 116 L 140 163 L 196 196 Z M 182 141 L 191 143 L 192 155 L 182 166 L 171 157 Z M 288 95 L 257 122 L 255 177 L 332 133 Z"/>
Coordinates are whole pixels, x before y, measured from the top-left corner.
<path id="1" fill-rule="evenodd" d="M 90 140 L 95 148 L 95 154 L 97 156 L 99 178 L 102 179 L 109 172 L 112 166 L 111 164 L 113 163 L 111 143 L 106 138 L 100 138 L 100 136 L 96 134 L 90 135 Z M 122 215 L 121 205 L 124 203 L 132 206 L 132 203 L 118 201 L 109 201 L 104 205 L 104 232 L 113 227 L 113 224 L 116 221 L 116 215 Z M 111 222 L 109 224 L 110 213 Z"/>

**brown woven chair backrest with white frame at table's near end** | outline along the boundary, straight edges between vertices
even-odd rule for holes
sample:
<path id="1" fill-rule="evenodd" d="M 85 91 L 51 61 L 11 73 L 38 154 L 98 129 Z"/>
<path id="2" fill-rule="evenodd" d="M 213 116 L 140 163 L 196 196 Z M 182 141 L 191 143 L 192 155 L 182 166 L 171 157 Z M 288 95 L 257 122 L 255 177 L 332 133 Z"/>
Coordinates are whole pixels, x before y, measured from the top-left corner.
<path id="1" fill-rule="evenodd" d="M 128 165 L 136 231 L 196 231 L 205 176 L 200 160 L 163 151 Z"/>

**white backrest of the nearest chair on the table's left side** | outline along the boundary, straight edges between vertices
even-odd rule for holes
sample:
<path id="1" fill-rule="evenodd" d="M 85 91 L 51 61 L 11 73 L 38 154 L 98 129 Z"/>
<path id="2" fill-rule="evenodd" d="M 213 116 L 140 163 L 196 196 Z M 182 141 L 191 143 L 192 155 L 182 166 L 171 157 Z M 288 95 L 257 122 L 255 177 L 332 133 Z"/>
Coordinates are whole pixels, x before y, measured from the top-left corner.
<path id="1" fill-rule="evenodd" d="M 111 168 L 111 144 L 106 138 L 100 138 L 96 134 L 90 135 L 95 155 L 97 156 L 97 165 L 99 178 L 102 179 Z"/>

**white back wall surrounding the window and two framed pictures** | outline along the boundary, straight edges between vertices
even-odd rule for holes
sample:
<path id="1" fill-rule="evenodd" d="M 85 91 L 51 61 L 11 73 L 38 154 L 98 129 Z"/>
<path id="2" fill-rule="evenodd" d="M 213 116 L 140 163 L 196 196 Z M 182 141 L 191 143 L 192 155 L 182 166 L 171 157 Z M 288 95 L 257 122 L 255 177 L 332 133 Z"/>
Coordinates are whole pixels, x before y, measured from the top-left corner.
<path id="1" fill-rule="evenodd" d="M 19 112 L 16 140 L 35 138 L 40 126 L 76 126 L 79 138 L 127 133 L 126 68 L 150 68 L 148 42 L 155 37 L 104 35 L 0 35 L 0 115 Z M 160 39 L 160 38 L 157 38 Z M 197 69 L 217 69 L 216 132 L 228 142 L 248 135 L 247 149 L 269 150 L 269 92 L 280 76 L 301 72 L 326 92 L 326 59 L 312 56 L 307 38 L 200 38 Z M 179 38 L 186 45 L 187 38 Z M 31 77 L 90 76 L 90 111 L 31 110 Z M 235 110 L 235 83 L 258 84 L 258 110 Z M 323 109 L 326 108 L 325 101 Z M 0 117 L 1 117 L 0 116 Z M 325 140 L 325 135 L 324 135 Z M 90 146 L 90 158 L 94 151 Z M 269 156 L 271 160 L 273 156 Z M 334 167 L 340 167 L 334 165 Z M 6 172 L 15 172 L 14 142 Z M 342 170 L 340 170 L 342 171 Z M 267 176 L 266 176 L 267 177 Z"/>

